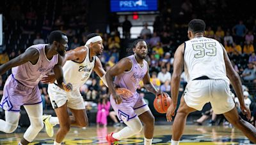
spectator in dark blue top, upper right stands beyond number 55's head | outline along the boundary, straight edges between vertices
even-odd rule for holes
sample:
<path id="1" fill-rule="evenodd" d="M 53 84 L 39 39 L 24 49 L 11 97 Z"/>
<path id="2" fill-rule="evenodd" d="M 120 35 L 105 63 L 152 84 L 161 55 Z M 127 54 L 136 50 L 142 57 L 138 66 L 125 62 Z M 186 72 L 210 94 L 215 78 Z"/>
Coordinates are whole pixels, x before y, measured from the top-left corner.
<path id="1" fill-rule="evenodd" d="M 232 28 L 232 32 L 234 36 L 236 36 L 236 43 L 241 45 L 241 43 L 243 43 L 244 41 L 244 36 L 246 34 L 246 27 L 243 24 L 243 20 L 239 20 L 239 24 L 235 25 Z"/>

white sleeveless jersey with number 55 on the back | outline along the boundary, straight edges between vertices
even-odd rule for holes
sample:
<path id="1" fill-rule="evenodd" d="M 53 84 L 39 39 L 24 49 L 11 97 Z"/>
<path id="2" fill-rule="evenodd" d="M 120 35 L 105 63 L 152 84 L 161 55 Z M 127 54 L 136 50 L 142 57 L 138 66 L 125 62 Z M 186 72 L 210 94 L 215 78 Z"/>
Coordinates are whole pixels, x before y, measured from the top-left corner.
<path id="1" fill-rule="evenodd" d="M 207 76 L 224 79 L 229 83 L 223 55 L 223 47 L 215 39 L 198 37 L 185 42 L 184 71 L 189 81 Z"/>

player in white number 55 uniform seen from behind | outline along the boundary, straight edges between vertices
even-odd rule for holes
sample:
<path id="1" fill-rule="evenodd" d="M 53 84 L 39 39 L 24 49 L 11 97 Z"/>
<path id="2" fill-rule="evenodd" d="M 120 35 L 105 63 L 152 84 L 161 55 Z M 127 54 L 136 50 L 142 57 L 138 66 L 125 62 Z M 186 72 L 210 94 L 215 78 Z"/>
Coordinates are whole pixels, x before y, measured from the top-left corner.
<path id="1" fill-rule="evenodd" d="M 173 122 L 172 145 L 179 144 L 188 114 L 202 110 L 207 102 L 211 103 L 214 113 L 224 114 L 250 141 L 256 142 L 256 128 L 239 117 L 231 97 L 230 82 L 239 98 L 241 111 L 250 119 L 250 109 L 244 104 L 241 79 L 234 71 L 225 48 L 215 39 L 205 38 L 204 31 L 203 20 L 191 20 L 188 24 L 189 41 L 180 45 L 175 52 L 171 82 L 172 104 L 166 113 L 168 121 L 172 121 L 177 107 L 183 66 L 188 85 Z"/>

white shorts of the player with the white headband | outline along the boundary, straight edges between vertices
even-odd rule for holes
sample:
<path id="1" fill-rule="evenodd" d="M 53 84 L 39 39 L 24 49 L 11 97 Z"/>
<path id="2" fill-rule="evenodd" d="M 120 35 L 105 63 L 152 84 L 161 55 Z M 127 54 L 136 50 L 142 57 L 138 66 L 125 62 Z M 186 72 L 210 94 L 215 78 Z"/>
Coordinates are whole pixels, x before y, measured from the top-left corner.
<path id="1" fill-rule="evenodd" d="M 50 83 L 48 85 L 48 93 L 53 109 L 63 106 L 66 102 L 71 109 L 85 109 L 84 100 L 79 89 L 65 92 L 59 86 Z"/>

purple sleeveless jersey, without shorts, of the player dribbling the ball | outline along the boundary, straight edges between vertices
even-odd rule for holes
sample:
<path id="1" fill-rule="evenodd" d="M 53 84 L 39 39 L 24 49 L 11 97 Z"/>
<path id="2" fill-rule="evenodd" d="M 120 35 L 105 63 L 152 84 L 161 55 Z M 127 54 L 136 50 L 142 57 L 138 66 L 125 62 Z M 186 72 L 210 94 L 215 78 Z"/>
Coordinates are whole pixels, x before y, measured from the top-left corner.
<path id="1" fill-rule="evenodd" d="M 121 88 L 127 88 L 133 93 L 133 95 L 135 95 L 137 93 L 136 90 L 140 84 L 140 81 L 144 78 L 148 71 L 148 64 L 146 60 L 143 60 L 143 67 L 141 67 L 135 59 L 134 55 L 131 55 L 127 58 L 132 60 L 131 71 L 123 72 L 122 74 L 116 76 L 114 83 L 116 86 Z"/>

